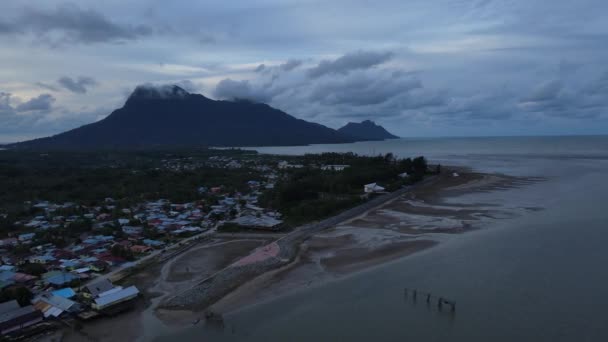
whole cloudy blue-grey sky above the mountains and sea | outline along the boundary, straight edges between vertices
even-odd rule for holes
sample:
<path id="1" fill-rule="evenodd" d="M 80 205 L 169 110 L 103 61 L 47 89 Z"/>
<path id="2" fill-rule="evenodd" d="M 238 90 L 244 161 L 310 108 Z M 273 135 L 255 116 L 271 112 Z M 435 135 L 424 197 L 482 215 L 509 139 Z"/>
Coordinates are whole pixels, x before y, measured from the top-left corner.
<path id="1" fill-rule="evenodd" d="M 604 0 L 2 0 L 0 142 L 137 85 L 400 136 L 608 134 Z"/>

